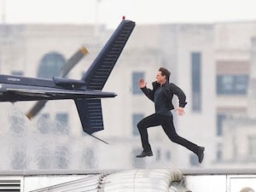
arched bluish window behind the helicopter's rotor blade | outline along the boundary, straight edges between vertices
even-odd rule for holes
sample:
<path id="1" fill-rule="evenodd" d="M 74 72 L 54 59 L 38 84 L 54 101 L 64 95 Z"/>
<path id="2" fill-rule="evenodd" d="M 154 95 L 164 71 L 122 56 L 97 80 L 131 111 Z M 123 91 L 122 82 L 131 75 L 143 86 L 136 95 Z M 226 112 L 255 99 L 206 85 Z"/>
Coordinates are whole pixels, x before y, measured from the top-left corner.
<path id="1" fill-rule="evenodd" d="M 55 76 L 59 76 L 61 67 L 63 67 L 65 63 L 66 61 L 63 55 L 56 52 L 44 55 L 38 68 L 38 77 L 51 79 Z"/>

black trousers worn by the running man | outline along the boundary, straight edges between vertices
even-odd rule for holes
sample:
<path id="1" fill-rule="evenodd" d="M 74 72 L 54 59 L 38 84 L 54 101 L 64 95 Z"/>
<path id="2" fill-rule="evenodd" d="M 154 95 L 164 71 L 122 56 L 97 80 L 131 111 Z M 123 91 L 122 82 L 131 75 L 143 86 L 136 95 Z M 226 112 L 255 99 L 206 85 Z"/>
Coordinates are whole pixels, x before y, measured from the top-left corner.
<path id="1" fill-rule="evenodd" d="M 179 137 L 177 135 L 177 132 L 173 125 L 173 117 L 167 115 L 160 115 L 157 113 L 149 115 L 137 124 L 138 131 L 141 135 L 144 151 L 151 150 L 150 144 L 148 143 L 148 127 L 158 125 L 161 125 L 163 127 L 166 135 L 171 139 L 173 143 L 180 144 L 183 147 L 188 148 L 190 151 L 193 151 L 195 154 L 197 154 L 198 146 L 195 143 L 191 143 L 187 139 Z"/>

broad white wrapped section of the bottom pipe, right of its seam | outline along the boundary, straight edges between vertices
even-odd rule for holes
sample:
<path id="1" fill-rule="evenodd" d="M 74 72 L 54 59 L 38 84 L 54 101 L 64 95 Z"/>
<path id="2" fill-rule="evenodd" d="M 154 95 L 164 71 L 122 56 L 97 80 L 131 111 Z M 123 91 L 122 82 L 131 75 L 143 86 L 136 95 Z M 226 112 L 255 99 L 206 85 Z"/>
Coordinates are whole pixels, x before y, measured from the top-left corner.
<path id="1" fill-rule="evenodd" d="M 183 173 L 175 169 L 129 170 L 116 172 L 104 178 L 104 192 L 168 192 L 172 182 L 183 179 Z"/>

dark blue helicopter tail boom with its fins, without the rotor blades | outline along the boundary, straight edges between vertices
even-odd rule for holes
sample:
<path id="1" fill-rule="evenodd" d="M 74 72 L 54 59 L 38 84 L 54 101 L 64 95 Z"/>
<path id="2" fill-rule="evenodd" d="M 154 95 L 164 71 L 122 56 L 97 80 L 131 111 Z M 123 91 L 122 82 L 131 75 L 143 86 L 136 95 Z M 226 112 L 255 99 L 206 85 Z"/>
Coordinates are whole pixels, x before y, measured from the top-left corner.
<path id="1" fill-rule="evenodd" d="M 53 79 L 0 75 L 0 102 L 73 99 L 84 132 L 102 131 L 101 98 L 116 96 L 102 88 L 134 27 L 135 22 L 123 19 L 80 80 L 63 78 L 66 73 Z"/>

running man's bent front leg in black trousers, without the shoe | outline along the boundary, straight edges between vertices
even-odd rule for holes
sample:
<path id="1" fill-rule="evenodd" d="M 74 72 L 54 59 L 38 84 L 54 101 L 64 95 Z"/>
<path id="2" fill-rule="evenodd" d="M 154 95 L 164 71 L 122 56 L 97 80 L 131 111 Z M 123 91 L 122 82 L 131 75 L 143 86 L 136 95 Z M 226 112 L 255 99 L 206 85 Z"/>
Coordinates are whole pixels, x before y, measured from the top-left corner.
<path id="1" fill-rule="evenodd" d="M 151 147 L 150 144 L 148 143 L 148 127 L 151 126 L 157 126 L 160 125 L 160 121 L 158 118 L 159 115 L 157 114 L 151 114 L 148 117 L 142 119 L 138 124 L 137 124 L 137 128 L 138 131 L 140 132 L 141 135 L 141 140 L 142 140 L 142 144 L 143 144 L 143 151 L 151 152 Z"/>

